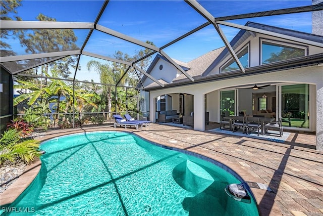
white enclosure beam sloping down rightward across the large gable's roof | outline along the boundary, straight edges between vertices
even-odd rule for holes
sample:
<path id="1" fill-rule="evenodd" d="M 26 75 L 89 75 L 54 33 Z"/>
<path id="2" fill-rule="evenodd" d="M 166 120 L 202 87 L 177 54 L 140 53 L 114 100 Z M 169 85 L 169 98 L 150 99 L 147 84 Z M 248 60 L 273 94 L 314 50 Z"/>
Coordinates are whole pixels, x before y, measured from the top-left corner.
<path id="1" fill-rule="evenodd" d="M 225 21 L 219 21 L 217 23 L 221 24 L 221 25 L 226 25 L 226 26 L 230 26 L 230 27 L 234 27 L 234 28 L 244 29 L 244 30 L 247 30 L 247 31 L 253 31 L 253 32 L 260 33 L 260 34 L 266 34 L 266 35 L 270 35 L 270 36 L 274 36 L 274 37 L 279 37 L 279 38 L 292 40 L 292 41 L 295 41 L 295 42 L 301 42 L 303 44 L 323 48 L 323 44 L 321 44 L 320 42 L 315 42 L 315 41 L 306 40 L 306 39 L 302 39 L 302 38 L 298 38 L 298 37 L 293 37 L 293 36 L 289 36 L 289 35 L 286 35 L 286 34 L 280 34 L 280 33 L 275 33 L 275 32 L 271 32 L 271 31 L 266 31 L 266 30 L 262 30 L 262 29 L 258 29 L 258 28 L 254 28 L 254 27 L 245 26 L 245 25 L 229 23 L 229 22 L 225 22 Z"/>

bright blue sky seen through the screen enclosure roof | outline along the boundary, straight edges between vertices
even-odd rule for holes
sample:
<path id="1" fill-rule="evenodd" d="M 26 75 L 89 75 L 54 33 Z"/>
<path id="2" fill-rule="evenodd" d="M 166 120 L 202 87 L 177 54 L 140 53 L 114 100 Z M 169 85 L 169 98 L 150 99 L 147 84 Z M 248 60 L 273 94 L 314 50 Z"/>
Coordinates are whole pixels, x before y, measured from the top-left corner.
<path id="1" fill-rule="evenodd" d="M 242 13 L 278 10 L 308 6 L 307 1 L 198 1 L 214 17 Z M 23 1 L 17 9 L 23 20 L 36 20 L 39 13 L 56 18 L 57 21 L 93 22 L 102 6 L 102 1 Z M 311 33 L 311 13 L 297 13 L 272 17 L 234 20 L 244 25 L 247 21 L 274 25 Z M 142 41 L 153 41 L 161 47 L 173 39 L 205 23 L 206 20 L 184 1 L 110 1 L 98 24 L 127 34 Z M 226 37 L 231 40 L 239 29 L 221 26 Z M 77 30 L 77 45 L 82 46 L 88 30 Z M 11 44 L 19 55 L 25 53 L 19 43 L 11 39 Z M 195 59 L 211 50 L 224 46 L 220 36 L 211 25 L 182 39 L 164 51 L 172 58 L 183 62 Z M 115 51 L 133 55 L 142 47 L 129 44 L 101 32 L 94 32 L 85 51 L 111 56 Z M 86 74 L 86 62 L 82 58 L 82 74 Z M 81 79 L 81 78 L 79 78 Z"/>

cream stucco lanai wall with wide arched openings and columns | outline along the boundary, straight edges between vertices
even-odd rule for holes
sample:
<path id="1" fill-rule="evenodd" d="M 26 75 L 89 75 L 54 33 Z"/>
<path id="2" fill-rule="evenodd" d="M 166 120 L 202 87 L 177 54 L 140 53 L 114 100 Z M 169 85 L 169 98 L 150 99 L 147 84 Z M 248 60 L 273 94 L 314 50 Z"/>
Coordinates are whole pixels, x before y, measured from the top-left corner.
<path id="1" fill-rule="evenodd" d="M 186 85 L 182 87 L 174 87 L 167 89 L 160 89 L 150 91 L 150 101 L 154 101 L 155 97 L 163 94 L 180 93 L 185 92 L 194 96 L 194 129 L 197 131 L 204 131 L 204 95 L 211 93 L 207 97 L 214 97 L 217 94 L 214 91 L 233 88 L 237 85 L 244 84 L 261 84 L 263 82 L 286 82 L 286 83 L 307 83 L 316 87 L 315 91 L 312 91 L 310 95 L 311 106 L 315 107 L 316 116 L 313 113 L 311 115 L 310 122 L 313 122 L 312 131 L 316 131 L 316 146 L 317 149 L 323 150 L 323 66 L 310 66 L 303 68 L 295 68 L 284 71 L 276 71 L 265 74 L 256 74 L 250 76 L 243 76 L 237 78 L 227 79 L 226 81 L 212 81 L 204 82 L 192 85 Z M 218 98 L 219 99 L 219 98 Z M 219 106 L 216 102 L 212 103 L 212 100 L 208 100 L 207 111 L 216 111 Z M 219 100 L 217 100 L 219 101 Z M 315 105 L 316 102 L 316 105 Z M 151 102 L 150 102 L 151 104 Z M 217 107 L 212 107 L 211 104 Z M 314 104 L 314 105 L 313 105 Z M 313 107 L 310 108 L 312 111 Z M 217 112 L 217 111 L 216 111 Z M 216 119 L 219 113 L 211 113 L 212 121 Z M 150 112 L 150 119 L 154 119 L 154 112 Z"/>

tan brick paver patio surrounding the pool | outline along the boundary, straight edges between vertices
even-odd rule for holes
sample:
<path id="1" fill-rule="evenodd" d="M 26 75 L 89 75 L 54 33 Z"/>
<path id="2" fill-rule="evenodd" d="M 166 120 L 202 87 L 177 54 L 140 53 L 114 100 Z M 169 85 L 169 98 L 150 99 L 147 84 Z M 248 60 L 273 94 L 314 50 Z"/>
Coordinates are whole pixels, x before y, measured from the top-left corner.
<path id="1" fill-rule="evenodd" d="M 216 124 L 210 124 L 208 126 Z M 290 133 L 284 143 L 235 135 L 199 132 L 165 124 L 147 129 L 113 128 L 111 125 L 47 131 L 47 140 L 71 133 L 118 130 L 134 133 L 161 145 L 184 149 L 226 164 L 244 181 L 268 185 L 274 192 L 251 188 L 261 215 L 321 215 L 323 213 L 323 152 L 315 150 L 314 135 Z M 36 166 L 35 172 L 37 173 Z M 28 170 L 28 168 L 26 169 Z M 32 169 L 31 169 L 32 170 Z M 1 202 L 19 195 L 22 175 L 1 196 Z M 31 181 L 32 178 L 27 178 Z M 19 186 L 20 192 L 19 192 Z"/>

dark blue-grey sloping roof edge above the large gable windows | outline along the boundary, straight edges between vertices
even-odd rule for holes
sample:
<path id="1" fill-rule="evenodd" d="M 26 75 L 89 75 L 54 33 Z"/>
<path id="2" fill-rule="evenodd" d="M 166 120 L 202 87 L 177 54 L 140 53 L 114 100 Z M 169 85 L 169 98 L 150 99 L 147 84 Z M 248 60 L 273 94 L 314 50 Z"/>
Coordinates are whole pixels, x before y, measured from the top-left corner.
<path id="1" fill-rule="evenodd" d="M 280 33 L 285 34 L 288 36 L 298 37 L 301 39 L 311 40 L 315 42 L 320 42 L 323 44 L 323 36 L 305 33 L 301 31 L 295 31 L 295 30 L 289 30 L 286 28 L 280 28 L 260 23 L 254 23 L 254 22 L 247 22 L 245 26 L 258 28 L 261 30 L 271 31 L 274 33 Z M 236 36 L 230 41 L 230 45 L 235 50 L 237 47 L 239 47 L 252 33 L 250 31 L 241 29 Z M 224 51 L 218 56 L 216 60 L 214 60 L 209 67 L 203 72 L 202 76 L 207 76 L 209 72 L 216 67 L 223 59 L 225 59 L 227 56 L 231 55 L 228 51 L 228 48 L 225 48 Z"/>

